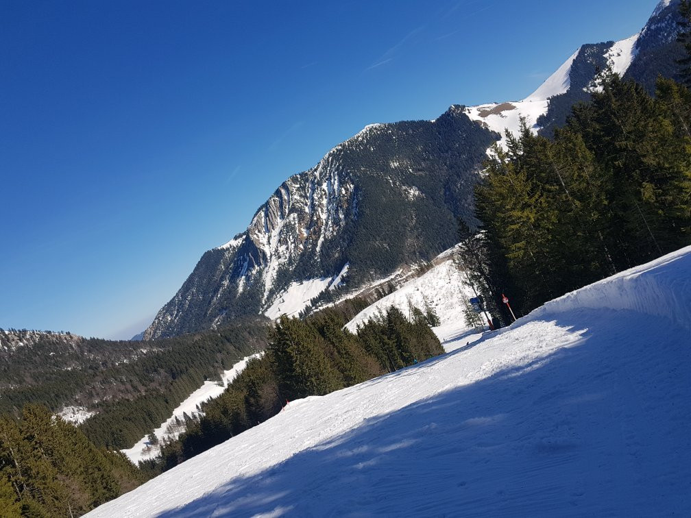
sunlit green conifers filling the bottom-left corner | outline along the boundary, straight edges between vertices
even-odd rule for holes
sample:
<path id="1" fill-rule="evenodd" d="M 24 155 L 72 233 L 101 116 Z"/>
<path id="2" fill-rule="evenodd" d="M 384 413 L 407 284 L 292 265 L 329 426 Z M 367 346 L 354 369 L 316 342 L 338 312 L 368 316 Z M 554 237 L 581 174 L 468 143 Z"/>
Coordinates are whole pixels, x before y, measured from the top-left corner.
<path id="1" fill-rule="evenodd" d="M 0 416 L 0 515 L 79 516 L 140 485 L 119 452 L 97 448 L 43 405 Z"/>

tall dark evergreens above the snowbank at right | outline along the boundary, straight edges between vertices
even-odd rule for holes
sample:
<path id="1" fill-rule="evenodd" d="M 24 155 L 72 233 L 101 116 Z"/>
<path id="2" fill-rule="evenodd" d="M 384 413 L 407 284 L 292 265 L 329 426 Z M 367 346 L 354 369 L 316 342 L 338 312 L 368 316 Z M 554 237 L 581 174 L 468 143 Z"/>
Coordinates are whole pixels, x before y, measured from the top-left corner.
<path id="1" fill-rule="evenodd" d="M 507 133 L 475 189 L 483 231 L 464 232 L 495 309 L 506 292 L 525 314 L 691 244 L 690 128 L 682 84 L 659 78 L 652 96 L 605 72 L 553 140 Z"/>

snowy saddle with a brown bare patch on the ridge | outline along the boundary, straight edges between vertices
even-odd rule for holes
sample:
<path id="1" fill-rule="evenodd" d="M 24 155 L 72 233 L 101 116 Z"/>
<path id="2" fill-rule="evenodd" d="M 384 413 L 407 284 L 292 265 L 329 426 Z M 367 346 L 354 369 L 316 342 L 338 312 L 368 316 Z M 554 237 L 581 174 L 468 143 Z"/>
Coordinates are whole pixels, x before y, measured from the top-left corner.
<path id="1" fill-rule="evenodd" d="M 547 99 L 529 100 L 520 102 L 504 102 L 501 104 L 481 104 L 480 106 L 470 106 L 466 108 L 466 115 L 485 124 L 492 131 L 502 135 L 499 145 L 507 147 L 507 139 L 504 130 L 509 130 L 513 135 L 518 135 L 520 129 L 520 118 L 524 117 L 528 127 L 536 133 L 539 129 L 538 117 L 547 113 Z"/>

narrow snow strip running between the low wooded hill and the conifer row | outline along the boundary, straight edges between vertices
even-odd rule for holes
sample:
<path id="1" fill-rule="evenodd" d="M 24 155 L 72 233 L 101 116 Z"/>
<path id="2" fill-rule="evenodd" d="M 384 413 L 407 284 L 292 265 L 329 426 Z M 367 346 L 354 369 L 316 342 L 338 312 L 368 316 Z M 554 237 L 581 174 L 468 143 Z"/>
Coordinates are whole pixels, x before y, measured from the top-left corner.
<path id="1" fill-rule="evenodd" d="M 229 370 L 223 372 L 221 383 L 216 381 L 205 381 L 204 385 L 189 394 L 187 399 L 182 401 L 178 407 L 173 410 L 173 414 L 158 428 L 153 430 L 153 434 L 158 437 L 159 441 L 177 439 L 178 436 L 184 432 L 184 425 L 178 427 L 176 425 L 176 418 L 184 421 L 184 414 L 192 417 L 198 413 L 198 405 L 209 401 L 209 399 L 217 398 L 226 389 L 228 384 L 235 379 L 235 377 L 245 370 L 247 362 L 252 358 L 259 358 L 263 353 L 252 354 L 245 356 L 242 360 L 235 363 Z M 85 409 L 86 410 L 86 409 Z M 160 454 L 159 445 L 149 443 L 148 434 L 140 439 L 132 448 L 120 450 L 135 464 L 147 459 L 153 459 Z"/>

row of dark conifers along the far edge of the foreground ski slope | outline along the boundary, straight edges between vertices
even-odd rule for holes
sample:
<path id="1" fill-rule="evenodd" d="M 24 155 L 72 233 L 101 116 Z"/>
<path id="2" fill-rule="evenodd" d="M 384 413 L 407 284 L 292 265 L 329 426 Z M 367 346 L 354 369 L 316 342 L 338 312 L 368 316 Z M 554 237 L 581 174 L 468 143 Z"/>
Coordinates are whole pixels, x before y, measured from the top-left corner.
<path id="1" fill-rule="evenodd" d="M 328 394 L 444 352 L 430 329 L 438 323 L 432 309 L 410 307 L 406 316 L 390 307 L 353 334 L 344 326 L 354 307 L 330 307 L 304 319 L 283 316 L 265 354 L 249 361 L 217 399 L 203 403 L 200 419 L 162 444 L 158 459 L 140 466 L 158 474 L 266 421 L 288 401 Z"/>

